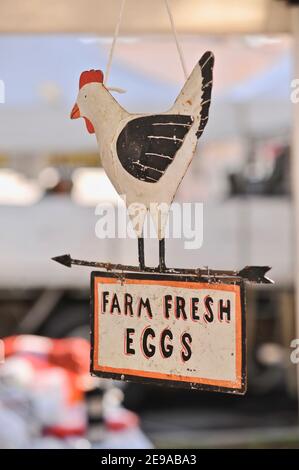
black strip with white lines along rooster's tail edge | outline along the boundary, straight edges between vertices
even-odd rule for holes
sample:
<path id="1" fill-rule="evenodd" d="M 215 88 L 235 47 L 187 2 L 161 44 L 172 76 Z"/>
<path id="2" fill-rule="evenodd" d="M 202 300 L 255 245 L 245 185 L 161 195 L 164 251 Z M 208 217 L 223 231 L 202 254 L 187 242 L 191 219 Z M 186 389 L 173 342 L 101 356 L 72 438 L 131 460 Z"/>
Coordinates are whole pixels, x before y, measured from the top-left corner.
<path id="1" fill-rule="evenodd" d="M 211 103 L 211 93 L 213 85 L 213 67 L 214 67 L 214 55 L 212 52 L 205 52 L 200 61 L 198 62 L 201 75 L 202 75 L 202 86 L 201 86 L 201 111 L 200 111 L 200 123 L 198 131 L 196 133 L 199 139 L 204 131 L 204 128 L 209 118 L 209 108 Z"/>

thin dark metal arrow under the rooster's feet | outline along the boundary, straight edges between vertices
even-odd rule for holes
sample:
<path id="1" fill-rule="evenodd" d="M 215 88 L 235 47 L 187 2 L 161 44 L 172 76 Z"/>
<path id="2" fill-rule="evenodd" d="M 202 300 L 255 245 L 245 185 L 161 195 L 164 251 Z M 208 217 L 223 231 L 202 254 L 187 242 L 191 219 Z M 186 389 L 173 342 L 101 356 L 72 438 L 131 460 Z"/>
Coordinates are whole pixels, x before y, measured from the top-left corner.
<path id="1" fill-rule="evenodd" d="M 219 269 L 209 269 L 209 268 L 195 268 L 195 269 L 186 269 L 186 268 L 166 268 L 163 271 L 160 271 L 159 267 L 145 267 L 142 271 L 138 266 L 124 265 L 124 264 L 113 264 L 113 263 L 104 263 L 99 261 L 84 261 L 80 259 L 73 259 L 71 255 L 62 255 L 55 256 L 52 258 L 53 261 L 56 261 L 63 266 L 71 268 L 73 265 L 76 266 L 88 266 L 92 268 L 102 268 L 107 271 L 131 271 L 131 272 L 146 272 L 153 274 L 178 274 L 178 275 L 188 275 L 196 276 L 199 278 L 204 278 L 208 280 L 229 280 L 234 281 L 238 279 L 244 279 L 245 281 L 254 282 L 257 284 L 274 284 L 272 279 L 265 276 L 265 274 L 270 271 L 270 266 L 245 266 L 245 268 L 240 271 L 228 271 L 228 270 L 219 270 Z"/>

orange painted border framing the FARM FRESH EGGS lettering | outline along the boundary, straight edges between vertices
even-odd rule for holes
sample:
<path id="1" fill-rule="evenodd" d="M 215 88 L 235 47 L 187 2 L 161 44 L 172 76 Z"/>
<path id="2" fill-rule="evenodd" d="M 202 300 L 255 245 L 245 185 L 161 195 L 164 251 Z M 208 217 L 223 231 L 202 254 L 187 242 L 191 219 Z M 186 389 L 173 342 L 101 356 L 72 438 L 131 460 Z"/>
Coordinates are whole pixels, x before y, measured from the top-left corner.
<path id="1" fill-rule="evenodd" d="M 128 277 L 127 277 L 128 276 Z M 119 276 L 113 273 L 102 273 L 102 272 L 93 272 L 92 279 L 92 297 L 94 297 L 94 302 L 92 302 L 92 353 L 91 353 L 91 372 L 92 373 L 103 373 L 106 376 L 109 374 L 117 376 L 129 376 L 128 378 L 133 379 L 144 378 L 161 381 L 171 381 L 171 382 L 183 382 L 188 384 L 197 384 L 203 386 L 211 386 L 213 388 L 219 388 L 219 391 L 226 391 L 225 389 L 230 389 L 232 392 L 245 393 L 246 384 L 244 380 L 245 368 L 244 368 L 244 357 L 243 353 L 245 352 L 243 346 L 245 342 L 242 340 L 242 330 L 245 327 L 244 318 L 242 318 L 242 283 L 238 282 L 235 284 L 229 283 L 206 283 L 200 281 L 192 280 L 178 280 L 175 276 L 159 275 L 155 276 L 155 279 L 148 278 L 148 275 L 142 274 L 125 274 L 125 282 L 127 284 L 144 284 L 144 285 L 164 285 L 170 287 L 183 287 L 185 289 L 196 289 L 200 285 L 204 289 L 211 290 L 225 290 L 229 292 L 234 292 L 237 296 L 236 299 L 236 350 L 235 350 L 235 360 L 236 360 L 236 380 L 213 380 L 206 379 L 202 377 L 186 377 L 182 375 L 174 374 L 165 374 L 160 372 L 150 372 L 150 371 L 141 371 L 138 369 L 125 369 L 125 368 L 116 368 L 110 366 L 102 366 L 98 363 L 98 353 L 99 353 L 99 302 L 98 302 L 98 284 L 108 283 L 108 284 L 118 284 Z M 164 278 L 164 279 L 161 279 Z"/>

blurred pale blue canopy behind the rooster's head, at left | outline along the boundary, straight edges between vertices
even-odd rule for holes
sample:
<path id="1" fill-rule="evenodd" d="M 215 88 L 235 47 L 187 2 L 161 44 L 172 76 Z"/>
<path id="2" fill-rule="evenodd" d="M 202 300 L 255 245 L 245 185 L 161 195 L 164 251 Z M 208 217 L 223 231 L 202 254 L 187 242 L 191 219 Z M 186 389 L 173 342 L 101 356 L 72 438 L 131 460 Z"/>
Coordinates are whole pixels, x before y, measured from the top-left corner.
<path id="1" fill-rule="evenodd" d="M 83 70 L 105 68 L 107 51 L 75 36 L 29 36 L 0 39 L 1 79 L 5 103 L 0 105 L 1 152 L 55 152 L 96 149 L 82 121 L 69 119 Z M 128 90 L 120 101 L 133 110 L 163 110 L 178 87 L 113 64 L 110 83 Z M 152 91 L 152 92 L 151 92 Z"/>

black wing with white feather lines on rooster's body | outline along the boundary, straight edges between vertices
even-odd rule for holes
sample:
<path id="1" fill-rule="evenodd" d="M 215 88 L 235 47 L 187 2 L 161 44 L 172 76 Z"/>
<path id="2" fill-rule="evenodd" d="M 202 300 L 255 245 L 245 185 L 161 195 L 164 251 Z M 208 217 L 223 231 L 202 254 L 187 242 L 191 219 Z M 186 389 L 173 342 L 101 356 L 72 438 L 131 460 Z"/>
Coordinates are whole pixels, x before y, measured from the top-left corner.
<path id="1" fill-rule="evenodd" d="M 172 163 L 192 122 L 191 116 L 179 114 L 132 119 L 116 143 L 121 165 L 138 180 L 156 183 Z"/>

